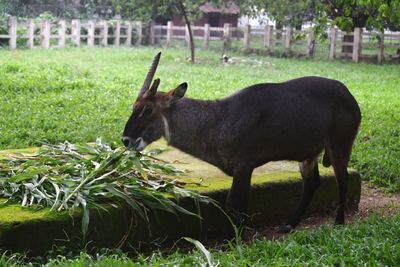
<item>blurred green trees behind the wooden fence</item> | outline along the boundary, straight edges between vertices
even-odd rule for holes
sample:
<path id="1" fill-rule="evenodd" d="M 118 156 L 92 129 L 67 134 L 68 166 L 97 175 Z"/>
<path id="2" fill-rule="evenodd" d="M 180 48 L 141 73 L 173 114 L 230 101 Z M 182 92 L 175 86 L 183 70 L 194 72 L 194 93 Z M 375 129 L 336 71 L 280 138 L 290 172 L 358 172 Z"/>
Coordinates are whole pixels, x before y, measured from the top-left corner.
<path id="1" fill-rule="evenodd" d="M 199 16 L 200 6 L 235 3 L 241 15 L 266 14 L 276 26 L 300 28 L 304 23 L 335 25 L 345 31 L 354 27 L 383 31 L 400 30 L 399 0 L 0 0 L 0 14 L 37 17 L 49 13 L 62 18 L 123 18 L 150 21 L 159 16 L 181 14 L 180 3 L 188 19 Z M 182 15 L 182 14 L 181 14 Z"/>

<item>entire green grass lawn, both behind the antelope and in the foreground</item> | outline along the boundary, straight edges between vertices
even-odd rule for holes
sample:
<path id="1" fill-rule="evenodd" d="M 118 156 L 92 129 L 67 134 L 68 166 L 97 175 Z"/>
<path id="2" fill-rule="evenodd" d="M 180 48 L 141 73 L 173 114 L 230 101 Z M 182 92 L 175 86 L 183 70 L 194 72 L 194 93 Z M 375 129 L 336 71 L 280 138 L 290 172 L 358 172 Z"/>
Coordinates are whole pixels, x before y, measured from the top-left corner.
<path id="1" fill-rule="evenodd" d="M 0 50 L 0 149 L 57 143 L 119 142 L 137 89 L 157 49 Z M 400 66 L 342 61 L 285 59 L 233 54 L 225 66 L 220 54 L 163 50 L 157 71 L 161 90 L 187 81 L 189 97 L 215 99 L 259 82 L 318 75 L 345 83 L 358 100 L 363 120 L 351 166 L 364 179 L 400 191 Z M 255 239 L 211 249 L 220 266 L 395 265 L 400 262 L 400 217 L 372 217 L 349 227 L 299 232 L 281 241 Z M 60 253 L 69 254 L 70 252 Z M 68 258 L 68 259 L 67 259 Z M 200 251 L 159 253 L 134 260 L 125 254 L 54 256 L 48 266 L 193 266 L 206 263 Z M 16 254 L 1 266 L 23 262 Z"/>

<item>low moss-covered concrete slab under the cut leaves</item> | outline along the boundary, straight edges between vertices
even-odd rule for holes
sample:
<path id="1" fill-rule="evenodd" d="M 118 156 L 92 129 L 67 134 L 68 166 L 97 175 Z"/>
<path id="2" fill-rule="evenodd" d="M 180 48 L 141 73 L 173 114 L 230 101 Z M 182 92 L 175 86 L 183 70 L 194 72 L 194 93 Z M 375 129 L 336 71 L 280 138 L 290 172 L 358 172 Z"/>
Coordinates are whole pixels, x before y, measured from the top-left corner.
<path id="1" fill-rule="evenodd" d="M 226 194 L 232 183 L 231 177 L 219 169 L 195 159 L 178 150 L 158 142 L 152 147 L 167 148 L 158 157 L 189 174 L 178 179 L 187 183 L 188 188 L 207 194 L 224 205 Z M 18 152 L 32 153 L 37 149 L 8 150 L 5 154 Z M 320 166 L 321 186 L 318 189 L 308 212 L 325 211 L 337 203 L 337 186 L 330 168 Z M 253 173 L 249 212 L 255 221 L 282 223 L 296 208 L 301 197 L 302 180 L 295 162 L 272 162 Z M 360 176 L 350 171 L 348 206 L 357 207 L 360 199 Z M 196 205 L 188 199 L 180 200 L 186 208 L 196 211 Z M 70 215 L 56 213 L 48 209 L 35 211 L 12 204 L 0 206 L 0 247 L 13 251 L 30 251 L 38 255 L 53 245 L 116 247 L 138 246 L 143 242 L 160 242 L 181 236 L 204 238 L 207 233 L 218 233 L 226 223 L 226 218 L 215 207 L 201 206 L 200 221 L 194 217 L 161 213 L 158 218 L 150 216 L 151 224 L 135 218 L 126 207 L 107 208 L 107 212 L 92 212 L 90 231 L 85 240 L 80 233 L 81 212 Z"/>

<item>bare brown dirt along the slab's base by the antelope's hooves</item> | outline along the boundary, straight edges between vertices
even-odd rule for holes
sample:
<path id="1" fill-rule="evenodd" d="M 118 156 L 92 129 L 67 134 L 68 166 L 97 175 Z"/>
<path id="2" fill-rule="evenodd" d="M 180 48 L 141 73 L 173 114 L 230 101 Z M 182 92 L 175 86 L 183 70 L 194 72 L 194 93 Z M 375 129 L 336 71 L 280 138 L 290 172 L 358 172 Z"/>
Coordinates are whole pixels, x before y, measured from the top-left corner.
<path id="1" fill-rule="evenodd" d="M 354 223 L 359 219 L 367 218 L 377 213 L 382 216 L 392 216 L 400 213 L 400 194 L 385 193 L 379 188 L 372 188 L 367 183 L 361 185 L 361 199 L 357 211 L 347 212 L 346 223 Z M 324 214 L 313 214 L 304 218 L 298 231 L 320 227 L 323 224 L 333 225 L 335 214 L 333 211 Z M 267 238 L 279 238 L 286 234 L 277 232 L 277 227 L 257 227 L 256 231 Z"/>

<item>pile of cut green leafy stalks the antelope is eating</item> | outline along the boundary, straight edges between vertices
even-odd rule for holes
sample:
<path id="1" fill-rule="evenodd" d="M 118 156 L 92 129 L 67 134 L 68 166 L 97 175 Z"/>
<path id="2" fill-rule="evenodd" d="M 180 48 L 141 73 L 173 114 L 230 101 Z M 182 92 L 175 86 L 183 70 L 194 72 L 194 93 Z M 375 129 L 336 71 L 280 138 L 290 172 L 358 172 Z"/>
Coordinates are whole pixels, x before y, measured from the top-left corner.
<path id="1" fill-rule="evenodd" d="M 159 153 L 159 151 L 156 151 Z M 148 221 L 148 210 L 178 216 L 194 214 L 175 203 L 189 197 L 214 203 L 208 197 L 178 187 L 166 176 L 183 172 L 152 156 L 123 148 L 112 149 L 99 139 L 96 144 L 43 145 L 33 155 L 9 155 L 0 160 L 0 197 L 22 206 L 50 207 L 52 210 L 83 209 L 82 232 L 89 225 L 89 210 L 102 204 L 130 206 Z"/>

